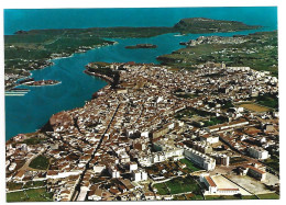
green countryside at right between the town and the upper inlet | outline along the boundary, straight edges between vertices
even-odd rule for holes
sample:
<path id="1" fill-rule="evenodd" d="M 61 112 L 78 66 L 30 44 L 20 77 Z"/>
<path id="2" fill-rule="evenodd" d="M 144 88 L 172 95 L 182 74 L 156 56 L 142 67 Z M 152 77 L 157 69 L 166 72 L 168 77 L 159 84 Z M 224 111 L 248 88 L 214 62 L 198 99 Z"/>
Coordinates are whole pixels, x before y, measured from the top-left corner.
<path id="1" fill-rule="evenodd" d="M 278 76 L 277 32 L 260 32 L 243 36 L 241 44 L 200 44 L 160 56 L 167 66 L 194 69 L 206 61 L 227 66 L 248 66 L 255 70 L 267 70 Z M 223 53 L 223 55 L 221 55 Z"/>

